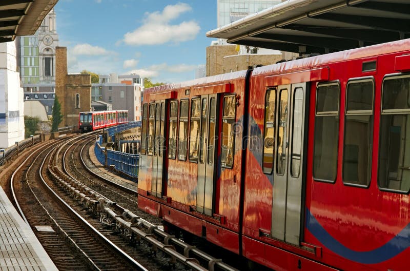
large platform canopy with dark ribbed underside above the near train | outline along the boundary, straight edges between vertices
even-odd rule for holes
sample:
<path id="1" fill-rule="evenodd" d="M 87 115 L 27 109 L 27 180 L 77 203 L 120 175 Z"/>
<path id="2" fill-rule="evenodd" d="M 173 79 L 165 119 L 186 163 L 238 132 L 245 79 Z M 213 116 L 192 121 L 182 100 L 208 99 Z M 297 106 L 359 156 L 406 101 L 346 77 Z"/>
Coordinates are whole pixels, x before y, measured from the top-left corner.
<path id="1" fill-rule="evenodd" d="M 211 30 L 228 43 L 329 53 L 410 37 L 408 0 L 288 0 Z"/>

